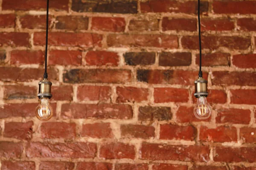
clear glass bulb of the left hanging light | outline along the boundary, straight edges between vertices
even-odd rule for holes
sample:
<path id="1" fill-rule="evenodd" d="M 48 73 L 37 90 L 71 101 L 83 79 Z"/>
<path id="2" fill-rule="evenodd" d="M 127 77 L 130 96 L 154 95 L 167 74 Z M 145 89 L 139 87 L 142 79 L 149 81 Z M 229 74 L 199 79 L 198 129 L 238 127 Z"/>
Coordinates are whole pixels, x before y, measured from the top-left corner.
<path id="1" fill-rule="evenodd" d="M 52 107 L 48 98 L 39 99 L 39 105 L 35 109 L 35 115 L 41 121 L 47 121 L 52 118 Z"/>

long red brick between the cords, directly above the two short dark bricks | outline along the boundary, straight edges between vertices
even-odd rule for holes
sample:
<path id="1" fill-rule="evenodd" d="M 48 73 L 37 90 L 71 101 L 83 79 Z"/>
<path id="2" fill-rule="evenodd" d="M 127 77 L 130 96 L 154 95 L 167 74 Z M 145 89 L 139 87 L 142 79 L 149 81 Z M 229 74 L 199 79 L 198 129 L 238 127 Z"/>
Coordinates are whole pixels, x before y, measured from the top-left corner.
<path id="1" fill-rule="evenodd" d="M 107 43 L 110 47 L 178 48 L 178 38 L 175 35 L 109 34 Z"/>

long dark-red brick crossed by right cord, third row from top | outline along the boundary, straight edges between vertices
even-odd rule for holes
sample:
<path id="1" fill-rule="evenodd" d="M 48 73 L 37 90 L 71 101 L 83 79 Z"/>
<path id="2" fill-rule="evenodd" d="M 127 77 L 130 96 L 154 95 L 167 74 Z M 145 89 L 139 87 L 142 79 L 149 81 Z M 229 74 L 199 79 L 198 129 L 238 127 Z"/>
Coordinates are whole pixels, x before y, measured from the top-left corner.
<path id="1" fill-rule="evenodd" d="M 229 49 L 245 50 L 251 45 L 250 37 L 237 37 L 237 36 L 203 36 L 201 37 L 202 48 L 209 48 L 211 50 L 226 47 Z M 181 38 L 183 48 L 198 49 L 198 36 L 183 36 Z"/>

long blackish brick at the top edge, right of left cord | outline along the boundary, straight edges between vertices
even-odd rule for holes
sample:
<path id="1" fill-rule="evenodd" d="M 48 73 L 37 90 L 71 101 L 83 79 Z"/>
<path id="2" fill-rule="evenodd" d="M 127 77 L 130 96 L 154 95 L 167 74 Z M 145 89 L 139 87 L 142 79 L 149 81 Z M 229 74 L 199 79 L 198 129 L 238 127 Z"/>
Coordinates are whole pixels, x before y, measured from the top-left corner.
<path id="1" fill-rule="evenodd" d="M 136 14 L 136 0 L 73 0 L 71 9 L 76 12 L 106 12 Z"/>

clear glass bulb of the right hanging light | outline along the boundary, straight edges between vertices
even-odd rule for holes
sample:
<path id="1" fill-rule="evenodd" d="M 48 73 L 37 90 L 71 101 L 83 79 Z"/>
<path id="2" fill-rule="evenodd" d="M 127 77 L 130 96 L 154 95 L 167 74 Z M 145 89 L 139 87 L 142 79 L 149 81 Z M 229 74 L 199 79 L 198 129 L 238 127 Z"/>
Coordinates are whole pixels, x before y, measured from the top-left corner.
<path id="1" fill-rule="evenodd" d="M 212 114 L 212 108 L 207 103 L 206 97 L 197 98 L 197 104 L 194 108 L 195 117 L 201 120 L 208 119 Z"/>

